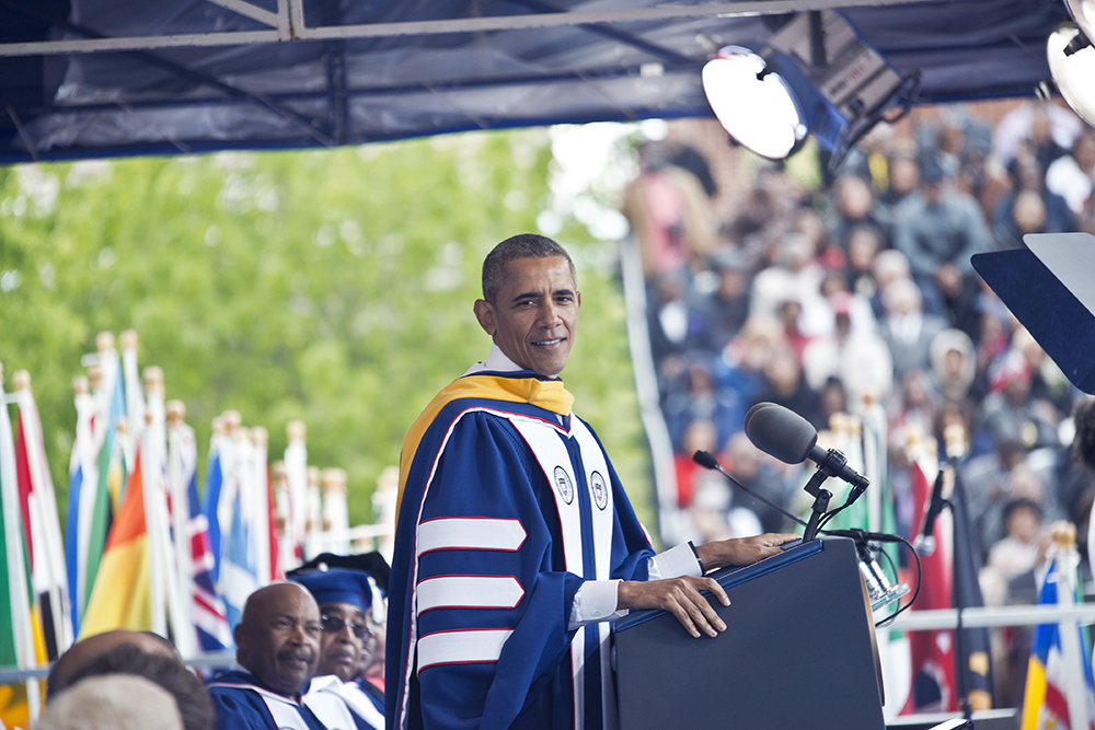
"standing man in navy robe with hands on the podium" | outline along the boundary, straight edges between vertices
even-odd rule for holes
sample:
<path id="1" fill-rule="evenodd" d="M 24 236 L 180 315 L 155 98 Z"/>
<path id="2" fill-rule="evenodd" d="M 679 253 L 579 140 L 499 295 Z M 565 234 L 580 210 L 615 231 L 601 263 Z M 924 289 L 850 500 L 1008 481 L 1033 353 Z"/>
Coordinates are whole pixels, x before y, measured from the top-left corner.
<path id="1" fill-rule="evenodd" d="M 542 235 L 483 263 L 475 317 L 494 344 L 403 440 L 388 625 L 388 727 L 613 728 L 609 622 L 664 609 L 692 636 L 726 628 L 706 570 L 795 535 L 655 556 L 558 374 L 581 294 Z"/>

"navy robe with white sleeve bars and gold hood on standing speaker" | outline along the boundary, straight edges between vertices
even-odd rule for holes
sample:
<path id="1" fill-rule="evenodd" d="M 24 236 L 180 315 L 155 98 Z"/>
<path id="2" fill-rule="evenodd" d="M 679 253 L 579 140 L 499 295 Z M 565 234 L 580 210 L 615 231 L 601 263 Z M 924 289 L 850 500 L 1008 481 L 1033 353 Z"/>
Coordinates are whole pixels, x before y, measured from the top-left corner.
<path id="1" fill-rule="evenodd" d="M 608 623 L 569 629 L 587 580 L 654 555 L 557 379 L 479 372 L 403 442 L 389 593 L 388 727 L 615 723 Z"/>

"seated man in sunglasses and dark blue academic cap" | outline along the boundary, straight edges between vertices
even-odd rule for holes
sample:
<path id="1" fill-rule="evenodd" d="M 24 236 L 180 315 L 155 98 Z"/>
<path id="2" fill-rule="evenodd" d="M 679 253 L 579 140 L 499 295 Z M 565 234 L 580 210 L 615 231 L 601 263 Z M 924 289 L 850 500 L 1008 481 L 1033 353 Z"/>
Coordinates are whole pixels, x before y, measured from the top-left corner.
<path id="1" fill-rule="evenodd" d="M 309 591 L 320 605 L 320 660 L 315 677 L 304 695 L 304 705 L 328 726 L 327 697 L 346 704 L 359 730 L 383 730 L 384 696 L 372 685 L 356 682 L 361 658 L 370 639 L 367 614 L 372 607 L 372 587 L 362 570 L 331 568 L 290 577 Z M 371 691 L 371 692 L 370 692 Z"/>

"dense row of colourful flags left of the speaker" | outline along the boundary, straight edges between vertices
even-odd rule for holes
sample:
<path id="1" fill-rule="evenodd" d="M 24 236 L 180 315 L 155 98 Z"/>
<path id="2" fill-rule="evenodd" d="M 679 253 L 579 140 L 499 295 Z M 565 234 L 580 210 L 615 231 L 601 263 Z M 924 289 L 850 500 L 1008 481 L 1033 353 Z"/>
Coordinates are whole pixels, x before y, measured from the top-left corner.
<path id="1" fill-rule="evenodd" d="M 228 650 L 254 589 L 349 532 L 345 473 L 309 467 L 300 421 L 272 470 L 265 429 L 216 418 L 199 499 L 184 405 L 165 402 L 159 368 L 141 382 L 136 334 L 119 340 L 100 334 L 73 381 L 64 538 L 30 375 L 0 387 L 0 667 L 43 665 L 114 628 L 155 631 L 184 657 Z M 27 727 L 41 706 L 37 682 L 0 686 L 3 726 Z"/>

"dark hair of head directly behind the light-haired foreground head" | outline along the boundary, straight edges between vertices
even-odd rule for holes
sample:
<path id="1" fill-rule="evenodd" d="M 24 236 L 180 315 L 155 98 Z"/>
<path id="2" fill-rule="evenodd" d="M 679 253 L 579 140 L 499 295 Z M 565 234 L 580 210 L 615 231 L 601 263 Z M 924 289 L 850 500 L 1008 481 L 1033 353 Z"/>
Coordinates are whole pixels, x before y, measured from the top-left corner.
<path id="1" fill-rule="evenodd" d="M 212 730 L 209 693 L 201 680 L 178 660 L 148 653 L 129 642 L 119 644 L 81 664 L 68 686 L 102 674 L 136 674 L 159 684 L 175 698 L 185 730 Z"/>

